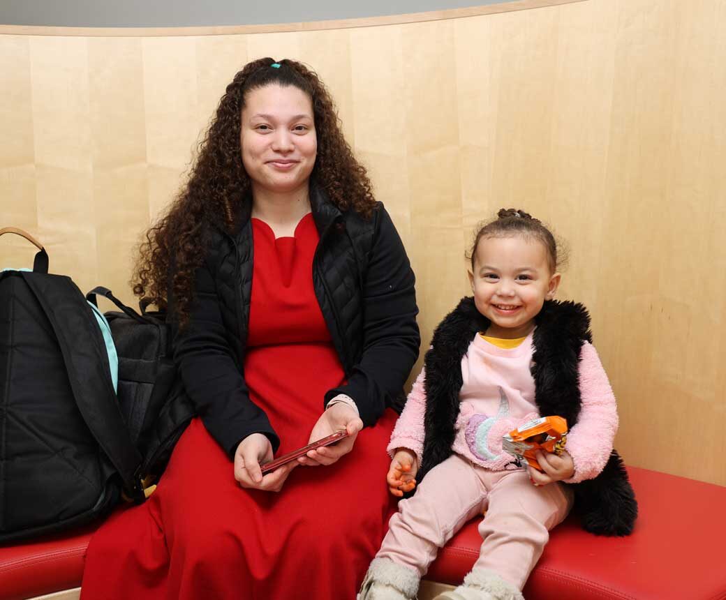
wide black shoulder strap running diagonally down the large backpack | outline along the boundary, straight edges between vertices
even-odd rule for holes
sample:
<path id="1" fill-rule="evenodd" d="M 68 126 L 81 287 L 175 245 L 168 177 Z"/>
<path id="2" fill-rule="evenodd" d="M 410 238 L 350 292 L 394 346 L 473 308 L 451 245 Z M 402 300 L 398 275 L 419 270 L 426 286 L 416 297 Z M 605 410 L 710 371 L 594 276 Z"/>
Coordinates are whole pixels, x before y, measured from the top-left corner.
<path id="1" fill-rule="evenodd" d="M 56 334 L 68 380 L 83 420 L 121 475 L 126 495 L 144 499 L 142 458 L 131 443 L 107 369 L 105 344 L 91 307 L 69 277 L 21 272 Z"/>

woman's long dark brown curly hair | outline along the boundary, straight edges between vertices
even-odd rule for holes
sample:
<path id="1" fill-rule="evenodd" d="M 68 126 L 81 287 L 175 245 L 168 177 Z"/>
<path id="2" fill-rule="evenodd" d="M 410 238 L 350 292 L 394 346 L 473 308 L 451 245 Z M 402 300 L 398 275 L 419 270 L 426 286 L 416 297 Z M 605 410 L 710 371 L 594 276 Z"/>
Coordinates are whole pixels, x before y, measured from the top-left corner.
<path id="1" fill-rule="evenodd" d="M 271 65 L 280 67 L 271 67 Z M 311 98 L 317 157 L 311 173 L 340 210 L 369 218 L 375 205 L 370 179 L 340 131 L 333 99 L 314 71 L 293 60 L 262 58 L 234 75 L 210 123 L 199 154 L 166 213 L 139 245 L 132 279 L 134 294 L 166 308 L 174 296 L 174 318 L 187 324 L 196 269 L 205 255 L 211 226 L 233 234 L 240 226 L 242 202 L 249 202 L 250 178 L 242 165 L 240 117 L 247 94 L 270 84 L 295 86 Z"/>

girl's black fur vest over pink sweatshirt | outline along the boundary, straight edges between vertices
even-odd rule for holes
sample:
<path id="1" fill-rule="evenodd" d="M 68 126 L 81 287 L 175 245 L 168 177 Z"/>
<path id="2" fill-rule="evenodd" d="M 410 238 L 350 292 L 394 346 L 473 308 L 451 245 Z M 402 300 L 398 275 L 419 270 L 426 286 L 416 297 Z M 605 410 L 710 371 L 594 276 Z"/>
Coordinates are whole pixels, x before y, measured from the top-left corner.
<path id="1" fill-rule="evenodd" d="M 560 415 L 572 427 L 579 416 L 579 356 L 582 343 L 592 341 L 590 316 L 581 304 L 547 300 L 537 315 L 531 372 L 539 414 Z M 462 387 L 461 360 L 471 340 L 485 332 L 489 319 L 465 297 L 433 332 L 425 357 L 425 441 L 417 480 L 452 454 Z M 616 451 L 592 480 L 572 485 L 574 511 L 585 530 L 598 535 L 628 535 L 637 517 L 637 503 L 624 464 Z"/>

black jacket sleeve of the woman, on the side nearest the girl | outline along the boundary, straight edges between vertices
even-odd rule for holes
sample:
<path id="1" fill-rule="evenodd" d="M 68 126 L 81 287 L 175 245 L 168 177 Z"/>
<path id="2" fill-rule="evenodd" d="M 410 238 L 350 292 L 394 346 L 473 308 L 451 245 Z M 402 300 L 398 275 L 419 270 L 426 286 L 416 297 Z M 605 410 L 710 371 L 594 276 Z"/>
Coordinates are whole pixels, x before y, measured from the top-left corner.
<path id="1" fill-rule="evenodd" d="M 375 237 L 364 274 L 362 357 L 347 385 L 325 395 L 326 403 L 341 393 L 353 398 L 364 425 L 375 424 L 401 393 L 420 344 L 411 264 L 386 209 L 380 205 L 374 214 Z"/>

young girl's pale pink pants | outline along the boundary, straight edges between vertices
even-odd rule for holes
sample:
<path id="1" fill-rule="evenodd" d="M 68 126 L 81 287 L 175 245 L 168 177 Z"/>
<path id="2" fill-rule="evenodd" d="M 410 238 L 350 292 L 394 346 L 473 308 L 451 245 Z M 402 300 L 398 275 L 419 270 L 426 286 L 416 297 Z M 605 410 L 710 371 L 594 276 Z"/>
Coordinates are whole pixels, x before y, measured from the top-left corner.
<path id="1" fill-rule="evenodd" d="M 571 506 L 572 490 L 565 485 L 535 487 L 523 469 L 488 471 L 454 454 L 428 472 L 412 498 L 399 503 L 376 558 L 404 564 L 423 577 L 439 548 L 486 511 L 473 570 L 492 570 L 521 590 L 549 530 Z"/>

